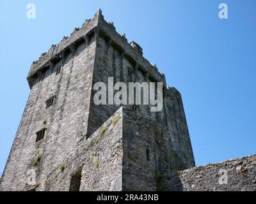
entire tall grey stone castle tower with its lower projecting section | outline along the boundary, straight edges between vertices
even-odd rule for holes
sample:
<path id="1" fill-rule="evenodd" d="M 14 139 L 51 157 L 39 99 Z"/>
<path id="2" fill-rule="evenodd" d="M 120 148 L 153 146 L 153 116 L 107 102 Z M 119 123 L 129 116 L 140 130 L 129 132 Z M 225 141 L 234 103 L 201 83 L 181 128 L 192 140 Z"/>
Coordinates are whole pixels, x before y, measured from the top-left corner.
<path id="1" fill-rule="evenodd" d="M 163 110 L 95 105 L 108 77 L 163 82 Z M 28 84 L 3 191 L 154 191 L 161 174 L 195 166 L 180 93 L 101 10 L 33 62 Z"/>

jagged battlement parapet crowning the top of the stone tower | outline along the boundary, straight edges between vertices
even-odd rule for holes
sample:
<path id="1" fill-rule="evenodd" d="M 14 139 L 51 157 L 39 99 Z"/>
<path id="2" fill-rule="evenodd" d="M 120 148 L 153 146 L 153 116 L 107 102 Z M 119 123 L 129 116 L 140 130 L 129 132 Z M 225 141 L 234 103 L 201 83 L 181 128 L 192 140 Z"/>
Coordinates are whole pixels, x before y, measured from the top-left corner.
<path id="1" fill-rule="evenodd" d="M 128 43 L 125 34 L 116 32 L 113 22 L 104 20 L 101 10 L 97 11 L 92 20 L 85 20 L 81 28 L 76 27 L 70 36 L 64 36 L 58 45 L 52 45 L 47 52 L 41 54 L 40 58 L 31 64 L 28 73 L 29 87 L 33 86 L 37 77 L 40 77 L 42 69 L 53 69 L 58 61 L 63 64 L 68 53 L 74 54 L 81 43 L 85 43 L 88 47 L 90 39 L 93 37 L 97 39 L 100 35 L 104 36 L 109 45 L 115 46 L 121 55 L 133 61 L 135 69 L 140 68 L 144 73 L 148 73 L 148 77 L 153 81 L 163 82 L 163 86 L 166 87 L 164 74 L 158 71 L 156 64 L 150 64 L 143 57 L 143 49 L 140 45 L 134 41 Z"/>

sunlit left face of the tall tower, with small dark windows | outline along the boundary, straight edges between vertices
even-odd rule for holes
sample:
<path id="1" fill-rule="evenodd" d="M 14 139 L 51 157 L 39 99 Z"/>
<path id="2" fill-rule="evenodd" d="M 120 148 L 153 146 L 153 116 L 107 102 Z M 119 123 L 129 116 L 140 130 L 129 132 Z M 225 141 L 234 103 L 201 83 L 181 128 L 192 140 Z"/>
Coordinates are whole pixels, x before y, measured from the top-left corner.
<path id="1" fill-rule="evenodd" d="M 86 135 L 92 90 L 95 43 L 80 45 L 74 56 L 69 54 L 61 73 L 47 69 L 36 79 L 6 163 L 1 186 L 6 191 L 24 191 L 26 173 L 35 168 L 36 180 L 44 189 L 47 175 L 77 149 Z M 45 101 L 56 96 L 54 104 L 45 109 Z M 36 142 L 36 132 L 47 128 L 45 137 Z M 34 161 L 40 156 L 40 163 Z"/>

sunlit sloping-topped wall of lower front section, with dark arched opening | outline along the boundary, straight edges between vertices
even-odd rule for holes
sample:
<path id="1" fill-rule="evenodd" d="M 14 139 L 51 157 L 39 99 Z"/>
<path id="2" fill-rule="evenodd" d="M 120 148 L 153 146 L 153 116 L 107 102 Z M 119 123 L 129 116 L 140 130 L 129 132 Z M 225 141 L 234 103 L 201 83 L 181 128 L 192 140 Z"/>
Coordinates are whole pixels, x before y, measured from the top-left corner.
<path id="1" fill-rule="evenodd" d="M 80 191 L 122 190 L 122 108 L 102 124 L 74 154 L 47 176 L 43 191 L 69 191 L 72 176 L 81 171 Z"/>

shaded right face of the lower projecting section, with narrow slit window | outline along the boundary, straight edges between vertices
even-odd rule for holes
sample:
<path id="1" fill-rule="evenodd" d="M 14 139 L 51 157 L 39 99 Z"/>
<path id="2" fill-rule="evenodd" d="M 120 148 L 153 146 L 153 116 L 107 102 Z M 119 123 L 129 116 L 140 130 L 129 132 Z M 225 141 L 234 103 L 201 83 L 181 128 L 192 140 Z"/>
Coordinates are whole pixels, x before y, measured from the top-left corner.
<path id="1" fill-rule="evenodd" d="M 123 108 L 123 189 L 124 191 L 164 190 L 161 172 L 186 169 L 173 150 L 168 131 L 140 110 Z"/>

